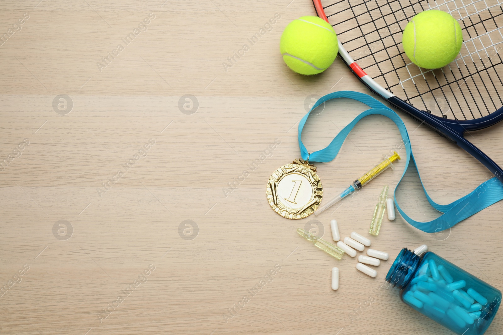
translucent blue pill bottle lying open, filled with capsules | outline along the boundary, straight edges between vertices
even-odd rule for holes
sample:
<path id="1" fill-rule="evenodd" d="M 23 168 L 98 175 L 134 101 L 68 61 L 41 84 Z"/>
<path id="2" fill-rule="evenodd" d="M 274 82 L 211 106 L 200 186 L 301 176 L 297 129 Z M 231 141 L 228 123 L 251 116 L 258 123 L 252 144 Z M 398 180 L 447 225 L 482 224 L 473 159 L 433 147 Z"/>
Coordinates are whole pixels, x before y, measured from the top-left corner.
<path id="1" fill-rule="evenodd" d="M 400 299 L 459 335 L 482 335 L 501 302 L 501 292 L 432 252 L 403 248 L 386 275 Z"/>

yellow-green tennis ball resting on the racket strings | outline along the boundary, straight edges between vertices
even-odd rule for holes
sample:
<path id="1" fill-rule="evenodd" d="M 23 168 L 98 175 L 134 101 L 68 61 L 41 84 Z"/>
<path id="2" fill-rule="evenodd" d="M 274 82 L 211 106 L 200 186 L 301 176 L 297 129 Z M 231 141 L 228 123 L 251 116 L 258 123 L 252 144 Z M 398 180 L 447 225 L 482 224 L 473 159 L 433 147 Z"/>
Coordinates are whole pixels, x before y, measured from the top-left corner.
<path id="1" fill-rule="evenodd" d="M 403 30 L 405 54 L 414 64 L 426 69 L 438 69 L 452 62 L 462 43 L 459 23 L 442 11 L 419 13 Z"/>

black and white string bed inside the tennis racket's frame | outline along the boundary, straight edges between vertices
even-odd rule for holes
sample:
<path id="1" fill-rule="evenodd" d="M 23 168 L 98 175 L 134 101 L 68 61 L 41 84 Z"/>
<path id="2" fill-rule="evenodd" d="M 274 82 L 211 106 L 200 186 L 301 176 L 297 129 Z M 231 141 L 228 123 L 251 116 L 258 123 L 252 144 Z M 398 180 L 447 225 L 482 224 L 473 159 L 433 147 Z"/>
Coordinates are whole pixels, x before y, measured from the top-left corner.
<path id="1" fill-rule="evenodd" d="M 339 0 L 323 8 L 355 61 L 406 102 L 444 118 L 457 119 L 459 113 L 466 120 L 488 115 L 503 105 L 499 74 L 503 70 L 499 55 L 503 9 L 498 0 Z M 401 46 L 408 21 L 429 9 L 451 13 L 460 22 L 464 37 L 460 55 L 438 70 L 417 67 Z"/>

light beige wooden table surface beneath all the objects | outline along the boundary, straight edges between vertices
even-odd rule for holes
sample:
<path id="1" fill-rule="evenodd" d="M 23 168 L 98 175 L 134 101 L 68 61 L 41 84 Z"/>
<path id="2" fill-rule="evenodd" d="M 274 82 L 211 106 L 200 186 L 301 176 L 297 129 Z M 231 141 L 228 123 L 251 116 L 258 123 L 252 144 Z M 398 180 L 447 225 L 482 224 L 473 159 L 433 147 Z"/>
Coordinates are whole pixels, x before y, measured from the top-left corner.
<path id="1" fill-rule="evenodd" d="M 421 244 L 502 289 L 503 202 L 438 234 L 385 218 L 371 240 L 390 260 L 376 278 L 297 235 L 308 227 L 331 241 L 336 218 L 343 237 L 369 236 L 381 188 L 394 190 L 404 160 L 322 215 L 271 210 L 267 180 L 299 157 L 306 106 L 331 91 L 368 93 L 340 59 L 313 77 L 284 64 L 281 33 L 314 15 L 309 1 L 38 1 L 0 5 L 2 33 L 24 18 L 0 46 L 1 333 L 451 334 L 386 288 L 400 249 Z M 229 63 L 234 52 L 244 55 Z M 326 146 L 363 108 L 327 103 L 306 147 Z M 433 199 L 449 203 L 490 177 L 400 115 Z M 499 124 L 473 141 L 503 164 L 502 137 Z M 399 143 L 389 120 L 362 121 L 336 159 L 317 164 L 324 198 Z M 412 217 L 438 215 L 413 169 L 401 193 Z M 501 315 L 487 335 L 500 333 Z"/>

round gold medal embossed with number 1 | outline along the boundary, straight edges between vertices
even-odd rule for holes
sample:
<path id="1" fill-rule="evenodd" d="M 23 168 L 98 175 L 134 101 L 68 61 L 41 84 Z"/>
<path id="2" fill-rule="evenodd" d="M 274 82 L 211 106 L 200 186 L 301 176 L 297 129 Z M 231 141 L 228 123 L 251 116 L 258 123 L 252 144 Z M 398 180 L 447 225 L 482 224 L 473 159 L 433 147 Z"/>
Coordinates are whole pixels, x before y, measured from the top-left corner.
<path id="1" fill-rule="evenodd" d="M 314 213 L 323 196 L 323 187 L 316 167 L 309 161 L 296 159 L 283 165 L 269 177 L 267 200 L 275 212 L 291 219 Z"/>

